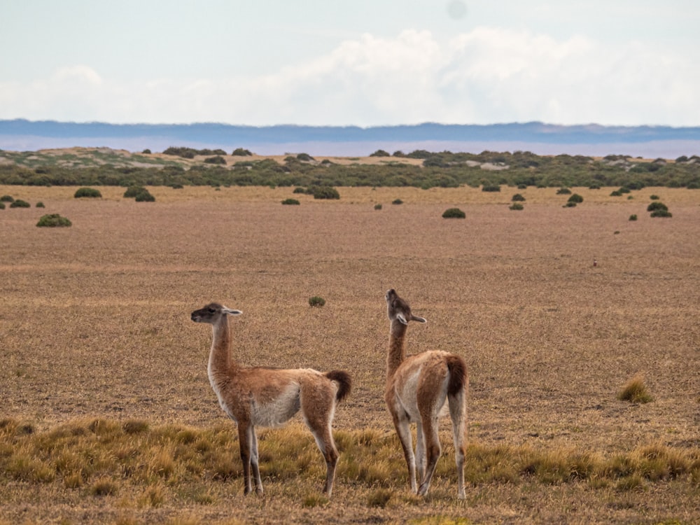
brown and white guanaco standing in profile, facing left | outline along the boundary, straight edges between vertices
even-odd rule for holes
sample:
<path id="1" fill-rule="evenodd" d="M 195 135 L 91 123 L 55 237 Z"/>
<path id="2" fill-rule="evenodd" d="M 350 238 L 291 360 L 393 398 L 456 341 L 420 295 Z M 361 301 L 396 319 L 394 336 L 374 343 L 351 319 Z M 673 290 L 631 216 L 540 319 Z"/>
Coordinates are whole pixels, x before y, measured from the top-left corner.
<path id="1" fill-rule="evenodd" d="M 352 381 L 342 370 L 322 374 L 317 370 L 241 367 L 231 358 L 229 315 L 241 314 L 212 302 L 191 314 L 197 323 L 212 325 L 214 338 L 209 353 L 209 381 L 224 412 L 238 423 L 243 462 L 244 493 L 262 494 L 258 465 L 258 437 L 255 426 L 276 426 L 301 411 L 304 423 L 314 435 L 326 463 L 323 491 L 330 497 L 335 479 L 338 451 L 331 423 L 335 403 L 351 391 Z M 252 471 L 252 472 L 251 472 Z"/>

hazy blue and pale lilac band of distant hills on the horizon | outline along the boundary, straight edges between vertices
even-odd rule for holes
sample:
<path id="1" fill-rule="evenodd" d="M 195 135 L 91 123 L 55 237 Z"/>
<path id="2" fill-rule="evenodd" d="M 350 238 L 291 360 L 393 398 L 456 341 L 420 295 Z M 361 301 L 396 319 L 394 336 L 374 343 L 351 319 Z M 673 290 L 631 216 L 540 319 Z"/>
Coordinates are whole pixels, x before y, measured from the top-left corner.
<path id="1" fill-rule="evenodd" d="M 416 150 L 479 153 L 531 151 L 538 155 L 610 154 L 677 158 L 700 154 L 700 127 L 601 126 L 512 123 L 493 125 L 419 125 L 378 127 L 242 126 L 216 123 L 109 124 L 0 120 L 0 149 L 109 147 L 162 151 L 169 146 L 246 148 L 260 155 L 309 153 L 361 156 Z"/>

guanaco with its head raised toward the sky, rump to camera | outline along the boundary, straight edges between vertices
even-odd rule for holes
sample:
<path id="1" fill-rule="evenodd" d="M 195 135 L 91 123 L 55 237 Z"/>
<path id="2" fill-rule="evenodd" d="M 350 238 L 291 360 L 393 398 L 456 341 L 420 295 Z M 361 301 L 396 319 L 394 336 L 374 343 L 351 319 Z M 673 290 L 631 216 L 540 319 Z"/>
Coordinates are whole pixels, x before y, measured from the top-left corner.
<path id="1" fill-rule="evenodd" d="M 393 289 L 386 292 L 386 308 L 391 325 L 384 400 L 401 441 L 411 489 L 425 495 L 430 488 L 437 458 L 440 457 L 437 417 L 447 401 L 457 466 L 457 495 L 464 498 L 467 365 L 460 356 L 444 351 L 426 351 L 407 357 L 405 337 L 409 321 L 425 323 L 426 320 L 412 314 L 409 304 Z M 410 423 L 417 426 L 415 454 Z M 416 484 L 416 466 L 419 485 Z"/>

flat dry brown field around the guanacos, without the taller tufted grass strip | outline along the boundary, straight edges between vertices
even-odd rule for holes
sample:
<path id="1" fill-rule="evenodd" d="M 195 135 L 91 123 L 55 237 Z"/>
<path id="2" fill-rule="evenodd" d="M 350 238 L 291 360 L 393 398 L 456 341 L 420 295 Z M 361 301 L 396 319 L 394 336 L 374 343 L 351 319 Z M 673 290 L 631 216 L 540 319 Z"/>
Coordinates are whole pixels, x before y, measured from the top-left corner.
<path id="1" fill-rule="evenodd" d="M 409 326 L 409 352 L 467 360 L 473 445 L 601 457 L 659 446 L 700 458 L 697 190 L 645 188 L 628 200 L 609 197 L 614 188 L 574 188 L 584 202 L 568 209 L 555 188 L 339 188 L 332 202 L 292 188 L 148 188 L 155 203 L 99 189 L 102 199 L 76 200 L 76 188 L 0 186 L 32 204 L 0 210 L 5 426 L 43 435 L 104 419 L 233 430 L 207 379 L 211 330 L 189 318 L 216 300 L 244 312 L 232 319 L 241 363 L 348 370 L 355 386 L 337 409 L 337 432 L 391 440 L 384 292 L 396 288 L 428 319 Z M 514 193 L 526 197 L 524 211 L 508 209 Z M 673 218 L 649 217 L 652 194 Z M 281 206 L 288 197 L 301 205 Z M 449 207 L 467 218 L 441 218 Z M 73 226 L 36 228 L 50 213 Z M 325 307 L 309 307 L 313 295 Z M 653 401 L 617 400 L 637 374 Z M 696 474 L 630 490 L 522 475 L 472 483 L 459 502 L 447 423 L 426 500 L 409 495 L 397 444 L 387 480 L 358 482 L 341 463 L 332 500 L 312 504 L 321 455 L 294 421 L 263 431 L 260 451 L 291 436 L 315 470 L 269 473 L 263 498 L 244 498 L 239 475 L 212 482 L 206 503 L 165 483 L 162 502 L 146 505 L 130 486 L 95 496 L 59 477 L 37 484 L 0 469 L 0 523 L 700 523 Z M 239 468 L 235 442 L 231 451 Z M 0 445 L 3 454 L 12 448 Z M 363 454 L 353 461 L 373 461 L 371 449 Z M 369 503 L 378 487 L 386 505 Z"/>

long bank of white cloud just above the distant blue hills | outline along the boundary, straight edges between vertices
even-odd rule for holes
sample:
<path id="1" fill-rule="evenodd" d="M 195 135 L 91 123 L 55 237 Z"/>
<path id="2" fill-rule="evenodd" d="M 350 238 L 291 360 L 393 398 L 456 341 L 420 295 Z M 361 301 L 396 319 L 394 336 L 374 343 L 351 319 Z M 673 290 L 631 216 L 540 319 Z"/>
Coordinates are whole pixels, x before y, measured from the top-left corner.
<path id="1" fill-rule="evenodd" d="M 693 55 L 694 53 L 694 55 Z M 247 125 L 549 123 L 700 125 L 697 50 L 673 55 L 583 36 L 482 27 L 365 34 L 266 76 L 122 82 L 89 66 L 0 82 L 0 118 Z"/>

